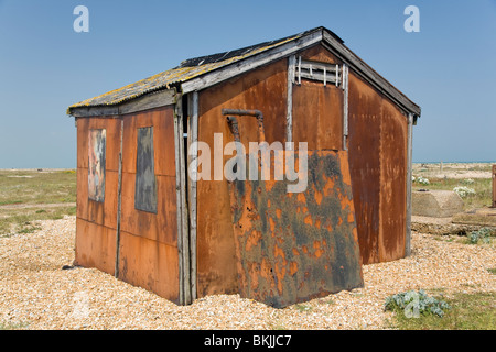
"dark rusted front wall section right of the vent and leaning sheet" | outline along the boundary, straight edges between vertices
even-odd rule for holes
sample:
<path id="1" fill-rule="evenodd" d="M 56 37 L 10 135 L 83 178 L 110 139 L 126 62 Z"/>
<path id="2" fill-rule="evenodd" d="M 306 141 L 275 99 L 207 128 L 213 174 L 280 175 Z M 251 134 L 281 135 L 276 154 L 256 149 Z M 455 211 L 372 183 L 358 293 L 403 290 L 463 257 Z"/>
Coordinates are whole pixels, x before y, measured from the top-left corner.
<path id="1" fill-rule="evenodd" d="M 349 165 L 364 264 L 405 256 L 407 118 L 349 72 Z"/>

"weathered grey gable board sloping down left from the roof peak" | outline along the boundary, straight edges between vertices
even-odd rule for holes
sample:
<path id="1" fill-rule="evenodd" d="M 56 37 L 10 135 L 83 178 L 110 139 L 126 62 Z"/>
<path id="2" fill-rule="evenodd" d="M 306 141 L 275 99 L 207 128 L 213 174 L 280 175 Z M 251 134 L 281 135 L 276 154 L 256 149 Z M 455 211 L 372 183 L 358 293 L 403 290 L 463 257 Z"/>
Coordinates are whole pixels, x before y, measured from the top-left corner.
<path id="1" fill-rule="evenodd" d="M 193 78 L 182 84 L 183 94 L 211 87 L 223 80 L 266 65 L 272 61 L 287 57 L 300 50 L 319 43 L 321 40 L 322 32 L 317 31 L 308 36 L 277 46 L 273 50 L 262 52 L 240 62 L 233 63 L 231 65 L 228 65 L 226 67 L 207 73 L 204 76 Z"/>

